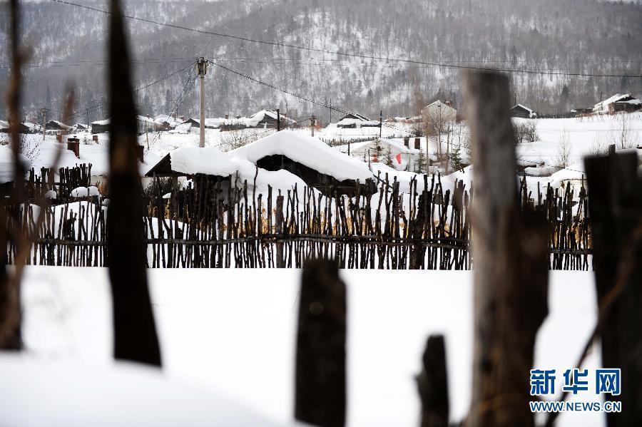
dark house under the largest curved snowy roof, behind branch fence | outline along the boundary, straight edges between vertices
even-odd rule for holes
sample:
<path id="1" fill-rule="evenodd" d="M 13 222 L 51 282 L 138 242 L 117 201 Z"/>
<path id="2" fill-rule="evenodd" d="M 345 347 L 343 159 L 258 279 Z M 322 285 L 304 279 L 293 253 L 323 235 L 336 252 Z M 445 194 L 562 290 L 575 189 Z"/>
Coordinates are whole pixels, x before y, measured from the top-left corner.
<path id="1" fill-rule="evenodd" d="M 367 163 L 292 130 L 273 133 L 227 154 L 233 162 L 250 162 L 267 171 L 286 171 L 322 192 L 352 195 L 357 189 L 362 194 L 374 191 L 374 175 Z"/>

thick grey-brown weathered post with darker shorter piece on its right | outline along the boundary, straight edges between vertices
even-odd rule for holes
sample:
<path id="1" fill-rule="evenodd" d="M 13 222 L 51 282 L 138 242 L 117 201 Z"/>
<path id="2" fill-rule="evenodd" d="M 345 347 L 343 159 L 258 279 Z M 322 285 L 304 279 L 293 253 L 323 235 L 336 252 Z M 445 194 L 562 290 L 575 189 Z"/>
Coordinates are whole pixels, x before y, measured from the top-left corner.
<path id="1" fill-rule="evenodd" d="M 529 370 L 547 314 L 544 217 L 521 215 L 509 79 L 467 74 L 472 137 L 474 259 L 473 427 L 532 426 Z"/>

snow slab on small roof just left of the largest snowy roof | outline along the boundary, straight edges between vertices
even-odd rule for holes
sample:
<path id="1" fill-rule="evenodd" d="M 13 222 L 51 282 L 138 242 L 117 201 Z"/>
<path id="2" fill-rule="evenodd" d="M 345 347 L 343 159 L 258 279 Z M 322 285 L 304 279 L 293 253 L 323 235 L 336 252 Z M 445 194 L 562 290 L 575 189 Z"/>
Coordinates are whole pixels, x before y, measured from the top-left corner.
<path id="1" fill-rule="evenodd" d="M 172 170 L 193 175 L 229 176 L 236 172 L 236 166 L 227 155 L 214 147 L 185 147 L 170 153 Z"/>

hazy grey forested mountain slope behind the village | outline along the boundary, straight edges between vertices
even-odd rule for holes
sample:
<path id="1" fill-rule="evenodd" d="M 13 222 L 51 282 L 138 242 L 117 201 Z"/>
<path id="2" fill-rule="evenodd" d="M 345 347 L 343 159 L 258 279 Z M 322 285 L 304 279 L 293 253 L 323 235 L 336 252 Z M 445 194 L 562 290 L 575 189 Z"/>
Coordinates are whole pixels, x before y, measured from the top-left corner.
<path id="1" fill-rule="evenodd" d="M 82 1 L 107 9 L 102 1 Z M 6 46 L 8 15 L 0 4 Z M 279 88 L 365 114 L 412 115 L 442 98 L 461 101 L 461 70 L 404 63 L 399 58 L 457 66 L 513 68 L 516 101 L 544 113 L 592 106 L 600 93 L 640 95 L 642 79 L 564 76 L 557 73 L 642 74 L 642 4 L 589 0 L 201 0 L 129 1 L 126 12 L 190 29 L 232 34 L 325 51 L 270 46 L 128 20 L 136 86 L 146 86 L 189 66 L 198 56 Z M 25 69 L 24 114 L 41 107 L 56 115 L 66 81 L 78 110 L 105 100 L 107 15 L 54 1 L 23 4 L 24 40 L 34 55 Z M 0 51 L 0 81 L 8 78 Z M 554 73 L 549 73 L 553 71 Z M 193 115 L 198 93 L 191 67 L 138 91 L 141 113 L 169 113 L 180 98 L 180 115 Z M 4 89 L 0 104 L 4 111 Z M 208 116 L 247 114 L 280 107 L 303 117 L 328 119 L 327 108 L 285 96 L 213 67 L 206 77 Z M 89 120 L 106 110 L 93 108 Z M 335 117 L 337 113 L 334 113 Z M 79 121 L 86 120 L 83 116 Z"/>

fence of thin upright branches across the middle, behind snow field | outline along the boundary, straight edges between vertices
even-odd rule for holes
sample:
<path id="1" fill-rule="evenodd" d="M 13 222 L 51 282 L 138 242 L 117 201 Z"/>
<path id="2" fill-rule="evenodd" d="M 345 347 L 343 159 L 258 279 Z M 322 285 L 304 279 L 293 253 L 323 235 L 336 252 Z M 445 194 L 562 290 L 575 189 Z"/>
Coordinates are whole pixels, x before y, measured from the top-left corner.
<path id="1" fill-rule="evenodd" d="M 91 168 L 80 165 L 31 173 L 26 192 L 34 202 L 4 209 L 21 218 L 34 236 L 27 264 L 95 266 L 108 264 L 106 215 L 102 196 L 72 197 L 88 186 Z M 233 180 L 234 182 L 234 180 Z M 334 257 L 350 269 L 470 269 L 474 236 L 469 205 L 473 192 L 459 181 L 444 190 L 437 175 L 417 175 L 407 191 L 393 178 L 380 178 L 378 191 L 354 197 L 331 187 L 292 187 L 282 192 L 250 190 L 253 182 L 196 176 L 184 188 L 156 178 L 143 191 L 148 267 L 302 267 L 308 257 Z M 409 190 L 409 191 L 408 191 Z M 55 192 L 45 206 L 36 195 Z M 592 269 L 588 195 L 571 186 L 536 194 L 521 180 L 521 209 L 542 210 L 549 222 L 549 268 Z M 44 221 L 37 221 L 44 215 Z M 16 248 L 7 247 L 9 262 Z"/>

